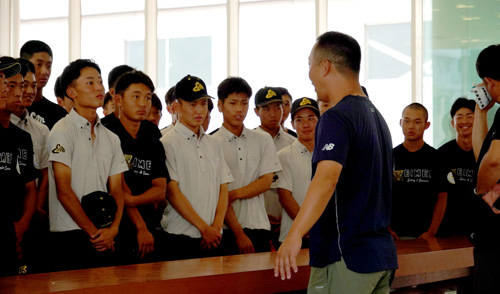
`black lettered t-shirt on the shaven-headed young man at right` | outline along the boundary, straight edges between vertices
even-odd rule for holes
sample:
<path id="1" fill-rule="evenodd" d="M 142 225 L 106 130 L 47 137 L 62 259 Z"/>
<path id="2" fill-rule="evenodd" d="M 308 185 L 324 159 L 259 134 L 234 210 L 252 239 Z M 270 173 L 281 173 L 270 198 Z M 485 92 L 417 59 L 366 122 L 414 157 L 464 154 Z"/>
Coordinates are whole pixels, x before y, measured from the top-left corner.
<path id="1" fill-rule="evenodd" d="M 410 152 L 394 148 L 391 229 L 400 237 L 418 238 L 431 224 L 439 186 L 436 149 L 424 144 Z"/>

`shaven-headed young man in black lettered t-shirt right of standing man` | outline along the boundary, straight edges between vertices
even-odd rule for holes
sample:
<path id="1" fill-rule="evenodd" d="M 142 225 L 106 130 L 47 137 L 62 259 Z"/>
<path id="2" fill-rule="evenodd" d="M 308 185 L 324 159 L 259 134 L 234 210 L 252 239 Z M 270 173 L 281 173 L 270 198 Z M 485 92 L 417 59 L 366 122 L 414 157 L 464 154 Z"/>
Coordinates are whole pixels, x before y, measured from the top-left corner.
<path id="1" fill-rule="evenodd" d="M 446 197 L 439 193 L 436 179 L 436 150 L 424 142 L 424 131 L 430 126 L 427 109 L 420 103 L 408 105 L 400 125 L 405 140 L 393 151 L 391 234 L 396 240 L 434 237 L 444 216 Z"/>

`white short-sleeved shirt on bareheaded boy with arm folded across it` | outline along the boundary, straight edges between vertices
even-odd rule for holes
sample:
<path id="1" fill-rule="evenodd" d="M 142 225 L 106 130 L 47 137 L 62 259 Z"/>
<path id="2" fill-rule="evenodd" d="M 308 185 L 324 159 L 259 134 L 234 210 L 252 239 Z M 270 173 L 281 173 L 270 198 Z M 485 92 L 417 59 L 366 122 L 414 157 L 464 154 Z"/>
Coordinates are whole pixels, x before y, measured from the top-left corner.
<path id="1" fill-rule="evenodd" d="M 228 191 L 236 190 L 255 182 L 261 176 L 281 170 L 271 135 L 243 128 L 238 137 L 224 126 L 213 135 L 222 144 L 224 158 L 234 181 Z M 234 213 L 242 228 L 270 230 L 264 193 L 232 203 Z"/>

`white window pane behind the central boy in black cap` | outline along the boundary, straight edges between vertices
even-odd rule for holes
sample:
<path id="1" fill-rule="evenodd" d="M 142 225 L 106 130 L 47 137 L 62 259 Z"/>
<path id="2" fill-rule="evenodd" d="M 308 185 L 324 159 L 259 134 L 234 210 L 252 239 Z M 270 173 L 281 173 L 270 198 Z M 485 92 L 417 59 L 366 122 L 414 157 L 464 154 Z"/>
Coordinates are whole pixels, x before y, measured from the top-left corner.
<path id="1" fill-rule="evenodd" d="M 217 1 L 158 1 L 158 38 L 166 42 L 164 48 L 158 48 L 158 54 L 165 56 L 159 60 L 159 68 L 165 65 L 166 71 L 163 76 L 159 75 L 162 80 L 158 81 L 156 92 L 163 104 L 167 90 L 188 74 L 200 77 L 207 85 L 208 94 L 214 97 L 217 86 L 227 76 L 225 5 L 160 9 L 202 5 L 202 2 L 213 4 Z M 170 123 L 170 115 L 164 110 L 160 127 Z M 209 131 L 221 124 L 222 115 L 215 107 Z"/>

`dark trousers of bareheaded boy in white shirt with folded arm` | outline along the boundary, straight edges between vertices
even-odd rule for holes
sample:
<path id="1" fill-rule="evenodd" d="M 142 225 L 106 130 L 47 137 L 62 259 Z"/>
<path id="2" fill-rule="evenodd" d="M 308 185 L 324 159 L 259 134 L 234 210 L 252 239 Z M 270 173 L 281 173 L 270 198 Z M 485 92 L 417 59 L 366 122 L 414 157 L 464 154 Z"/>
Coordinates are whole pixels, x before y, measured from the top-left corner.
<path id="1" fill-rule="evenodd" d="M 267 230 L 252 230 L 243 229 L 245 235 L 252 242 L 255 252 L 269 252 L 271 251 L 271 233 Z M 240 254 L 236 237 L 230 229 L 225 229 L 222 234 L 222 243 L 224 243 L 224 255 Z"/>

